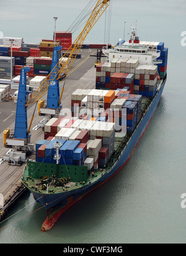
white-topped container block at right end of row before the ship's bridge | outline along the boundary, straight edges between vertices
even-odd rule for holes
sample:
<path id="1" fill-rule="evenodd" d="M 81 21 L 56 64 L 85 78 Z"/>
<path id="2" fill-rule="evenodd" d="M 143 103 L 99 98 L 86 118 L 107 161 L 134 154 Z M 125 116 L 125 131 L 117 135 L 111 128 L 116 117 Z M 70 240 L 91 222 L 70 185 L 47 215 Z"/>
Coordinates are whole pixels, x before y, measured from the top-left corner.
<path id="1" fill-rule="evenodd" d="M 138 65 L 135 71 L 134 93 L 154 97 L 157 87 L 157 65 Z"/>

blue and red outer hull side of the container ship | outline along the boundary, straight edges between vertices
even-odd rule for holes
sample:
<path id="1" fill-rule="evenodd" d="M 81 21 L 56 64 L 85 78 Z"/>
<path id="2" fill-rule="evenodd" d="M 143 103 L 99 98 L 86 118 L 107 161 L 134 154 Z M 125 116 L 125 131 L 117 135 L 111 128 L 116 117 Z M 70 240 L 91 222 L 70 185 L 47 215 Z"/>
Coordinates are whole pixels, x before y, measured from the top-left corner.
<path id="1" fill-rule="evenodd" d="M 82 197 L 86 196 L 86 194 L 106 183 L 110 178 L 117 174 L 118 171 L 123 168 L 123 166 L 125 166 L 127 161 L 131 158 L 133 152 L 135 151 L 139 140 L 143 136 L 146 127 L 148 126 L 151 118 L 154 115 L 154 112 L 157 109 L 157 105 L 164 90 L 165 83 L 166 80 L 164 80 L 161 89 L 151 102 L 148 111 L 143 116 L 143 118 L 141 118 L 141 121 L 136 127 L 127 145 L 125 146 L 125 148 L 123 148 L 123 151 L 118 157 L 117 161 L 113 163 L 113 166 L 108 169 L 106 173 L 103 173 L 100 177 L 95 178 L 91 181 L 91 183 L 83 187 L 74 189 L 72 191 L 61 192 L 58 194 L 41 194 L 30 189 L 30 192 L 33 193 L 35 200 L 37 202 L 40 202 L 43 207 L 47 209 L 48 216 L 45 222 L 43 222 L 42 231 L 50 230 L 64 211 L 66 211 L 69 207 L 82 199 Z"/>

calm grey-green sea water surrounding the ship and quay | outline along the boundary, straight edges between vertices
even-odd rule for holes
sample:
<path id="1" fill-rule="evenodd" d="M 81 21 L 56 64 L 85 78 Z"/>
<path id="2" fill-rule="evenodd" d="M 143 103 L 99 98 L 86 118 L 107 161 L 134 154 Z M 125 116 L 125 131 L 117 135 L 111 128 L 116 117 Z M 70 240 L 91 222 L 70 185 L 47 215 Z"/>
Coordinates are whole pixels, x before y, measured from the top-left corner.
<path id="1" fill-rule="evenodd" d="M 24 37 L 28 43 L 52 39 L 53 16 L 58 17 L 56 30 L 66 31 L 88 2 L 0 0 L 0 31 L 4 36 Z M 117 176 L 66 211 L 47 233 L 40 231 L 45 210 L 36 211 L 40 205 L 26 193 L 9 212 L 12 217 L 1 224 L 1 243 L 186 242 L 186 209 L 180 206 L 180 196 L 186 193 L 186 46 L 181 45 L 185 14 L 184 0 L 113 0 L 112 44 L 123 38 L 125 21 L 128 39 L 135 19 L 140 40 L 165 42 L 169 47 L 167 83 L 159 107 Z M 85 43 L 103 43 L 104 28 L 102 17 Z"/>

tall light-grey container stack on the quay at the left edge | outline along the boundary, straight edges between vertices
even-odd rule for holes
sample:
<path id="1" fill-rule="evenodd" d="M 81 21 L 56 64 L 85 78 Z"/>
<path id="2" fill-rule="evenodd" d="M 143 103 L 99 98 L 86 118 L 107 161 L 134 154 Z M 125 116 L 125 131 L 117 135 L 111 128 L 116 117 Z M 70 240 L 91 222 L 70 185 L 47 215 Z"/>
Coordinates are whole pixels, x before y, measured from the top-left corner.
<path id="1" fill-rule="evenodd" d="M 12 57 L 12 75 L 14 75 L 15 58 Z M 0 56 L 0 77 L 11 77 L 11 57 Z"/>

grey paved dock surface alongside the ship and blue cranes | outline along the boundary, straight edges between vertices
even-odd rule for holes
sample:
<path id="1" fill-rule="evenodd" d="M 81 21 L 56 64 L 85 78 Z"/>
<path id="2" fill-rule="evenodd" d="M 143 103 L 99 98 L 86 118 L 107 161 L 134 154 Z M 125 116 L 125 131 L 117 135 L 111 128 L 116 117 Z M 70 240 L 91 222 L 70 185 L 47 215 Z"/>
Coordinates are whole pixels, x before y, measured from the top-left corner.
<path id="1" fill-rule="evenodd" d="M 74 60 L 73 67 L 69 72 L 68 77 L 66 78 L 65 87 L 61 102 L 63 108 L 71 109 L 71 93 L 74 92 L 77 88 L 86 88 L 92 89 L 95 88 L 95 60 L 96 57 L 91 57 L 97 52 L 96 49 L 81 49 L 80 53 L 82 55 L 81 59 Z M 63 87 L 63 81 L 60 82 L 60 88 Z M 43 100 L 47 100 L 47 93 L 43 96 Z M 35 108 L 35 103 L 27 108 L 27 119 L 28 126 L 32 118 L 32 113 Z M 3 131 L 6 128 L 14 130 L 15 122 L 15 113 L 16 113 L 16 103 L 13 101 L 2 102 L 0 103 L 0 158 L 1 156 L 6 156 L 8 148 L 3 147 Z M 35 143 L 43 139 L 43 130 L 39 128 L 37 131 L 32 130 L 32 128 L 40 123 L 43 119 L 43 116 L 38 116 L 38 112 L 35 112 L 33 119 L 31 132 L 31 141 L 30 143 Z M 30 158 L 34 158 L 32 155 Z M 15 194 L 18 187 L 22 185 L 20 178 L 22 177 L 24 166 L 12 166 L 4 161 L 0 164 L 0 193 L 4 196 L 4 201 L 10 201 L 10 198 Z"/>

